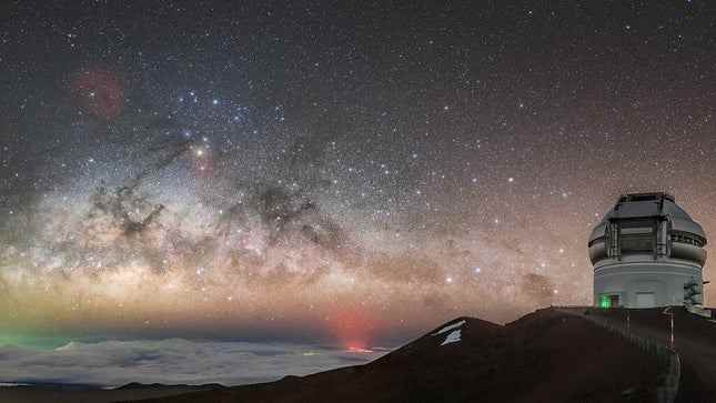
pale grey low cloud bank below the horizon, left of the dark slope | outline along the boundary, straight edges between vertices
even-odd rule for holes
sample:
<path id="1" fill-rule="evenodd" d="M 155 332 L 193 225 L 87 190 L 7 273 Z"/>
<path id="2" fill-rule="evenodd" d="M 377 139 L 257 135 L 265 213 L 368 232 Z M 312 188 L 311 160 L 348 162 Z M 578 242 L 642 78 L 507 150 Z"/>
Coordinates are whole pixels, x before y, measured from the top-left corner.
<path id="1" fill-rule="evenodd" d="M 0 381 L 119 386 L 130 382 L 238 385 L 369 362 L 385 351 L 249 342 L 71 342 L 56 350 L 0 347 Z"/>

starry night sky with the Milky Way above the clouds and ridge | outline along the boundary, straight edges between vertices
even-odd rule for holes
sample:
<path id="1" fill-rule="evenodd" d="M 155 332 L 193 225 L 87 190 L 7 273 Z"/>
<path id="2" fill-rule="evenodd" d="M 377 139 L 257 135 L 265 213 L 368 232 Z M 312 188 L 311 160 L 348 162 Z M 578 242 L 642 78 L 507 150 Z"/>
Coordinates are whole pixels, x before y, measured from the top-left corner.
<path id="1" fill-rule="evenodd" d="M 716 233 L 716 12 L 647 3 L 3 2 L 0 342 L 591 304 L 621 193 Z"/>

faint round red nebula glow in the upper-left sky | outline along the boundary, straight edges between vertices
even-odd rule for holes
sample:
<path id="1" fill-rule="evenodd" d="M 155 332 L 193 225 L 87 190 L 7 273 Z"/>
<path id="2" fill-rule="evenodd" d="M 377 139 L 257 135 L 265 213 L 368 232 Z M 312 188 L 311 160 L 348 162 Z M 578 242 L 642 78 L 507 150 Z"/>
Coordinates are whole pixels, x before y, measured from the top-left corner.
<path id="1" fill-rule="evenodd" d="M 97 118 L 112 119 L 124 107 L 124 88 L 118 75 L 104 69 L 83 70 L 77 73 L 70 90 L 74 101 Z"/>

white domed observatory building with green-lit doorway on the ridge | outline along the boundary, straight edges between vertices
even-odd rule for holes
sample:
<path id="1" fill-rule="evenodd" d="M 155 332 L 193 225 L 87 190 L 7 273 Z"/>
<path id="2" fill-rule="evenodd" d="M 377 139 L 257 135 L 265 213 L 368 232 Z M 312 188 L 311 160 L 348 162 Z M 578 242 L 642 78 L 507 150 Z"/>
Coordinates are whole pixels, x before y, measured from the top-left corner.
<path id="1" fill-rule="evenodd" d="M 597 306 L 703 304 L 706 234 L 667 193 L 622 195 L 589 235 Z"/>

